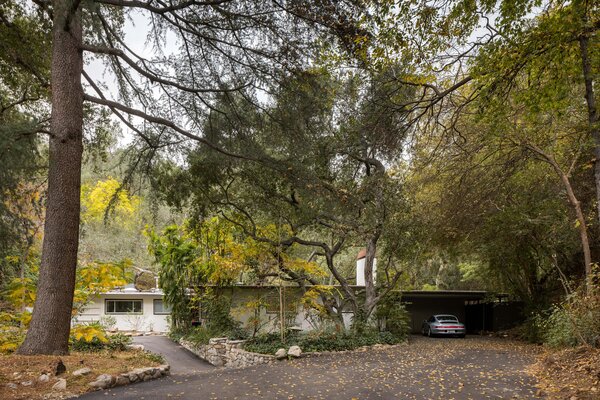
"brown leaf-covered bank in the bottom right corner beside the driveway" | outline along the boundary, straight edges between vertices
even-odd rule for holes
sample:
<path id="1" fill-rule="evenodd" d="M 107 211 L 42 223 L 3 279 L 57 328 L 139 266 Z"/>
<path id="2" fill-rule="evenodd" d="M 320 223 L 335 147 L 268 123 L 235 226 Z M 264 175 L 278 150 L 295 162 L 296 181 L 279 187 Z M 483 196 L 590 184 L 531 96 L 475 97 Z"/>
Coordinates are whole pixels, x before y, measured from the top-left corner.
<path id="1" fill-rule="evenodd" d="M 600 349 L 582 346 L 550 352 L 532 372 L 549 399 L 600 399 Z"/>

